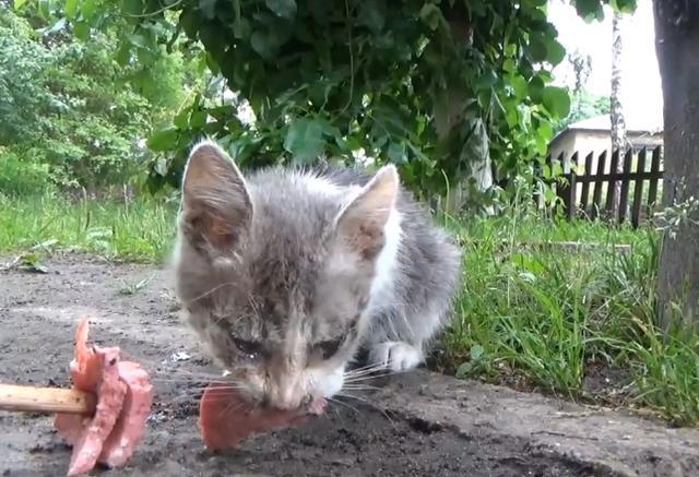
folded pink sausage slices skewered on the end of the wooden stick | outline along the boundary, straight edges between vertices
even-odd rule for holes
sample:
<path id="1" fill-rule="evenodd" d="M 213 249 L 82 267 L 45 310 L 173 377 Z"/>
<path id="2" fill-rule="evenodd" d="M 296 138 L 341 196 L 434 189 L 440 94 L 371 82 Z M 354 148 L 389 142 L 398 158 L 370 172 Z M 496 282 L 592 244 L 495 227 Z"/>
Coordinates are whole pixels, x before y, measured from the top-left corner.
<path id="1" fill-rule="evenodd" d="M 153 402 L 147 373 L 135 362 L 120 361 L 118 347 L 88 346 L 87 333 L 83 319 L 70 375 L 76 389 L 97 395 L 97 409 L 92 417 L 59 414 L 54 421 L 73 445 L 69 476 L 90 472 L 97 463 L 123 465 L 143 438 Z"/>

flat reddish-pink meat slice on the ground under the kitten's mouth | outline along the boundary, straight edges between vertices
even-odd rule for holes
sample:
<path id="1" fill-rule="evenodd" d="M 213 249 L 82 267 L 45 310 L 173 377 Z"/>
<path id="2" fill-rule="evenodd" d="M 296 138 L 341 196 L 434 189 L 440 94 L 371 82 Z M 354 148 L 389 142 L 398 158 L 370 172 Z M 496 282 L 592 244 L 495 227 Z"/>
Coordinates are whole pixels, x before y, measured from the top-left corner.
<path id="1" fill-rule="evenodd" d="M 199 429 L 210 450 L 230 449 L 252 433 L 300 424 L 309 414 L 322 414 L 324 407 L 325 400 L 319 398 L 307 409 L 263 409 L 242 401 L 229 384 L 217 382 L 201 397 Z"/>

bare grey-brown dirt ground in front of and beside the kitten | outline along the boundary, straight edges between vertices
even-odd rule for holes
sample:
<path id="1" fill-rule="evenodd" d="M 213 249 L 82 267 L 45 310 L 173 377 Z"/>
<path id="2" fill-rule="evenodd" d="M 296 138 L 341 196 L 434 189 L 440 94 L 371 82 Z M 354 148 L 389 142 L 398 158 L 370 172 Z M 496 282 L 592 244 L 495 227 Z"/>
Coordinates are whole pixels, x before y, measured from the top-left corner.
<path id="1" fill-rule="evenodd" d="M 215 370 L 180 325 L 167 274 L 85 258 L 46 265 L 47 274 L 0 272 L 0 382 L 67 385 L 74 321 L 84 312 L 97 342 L 121 346 L 155 378 L 144 444 L 128 467 L 95 475 L 699 475 L 695 431 L 425 372 L 212 455 L 188 377 Z M 552 416 L 557 409 L 570 415 Z M 608 424 L 616 419 L 628 422 Z M 0 475 L 62 475 L 69 456 L 48 417 L 0 412 Z"/>

